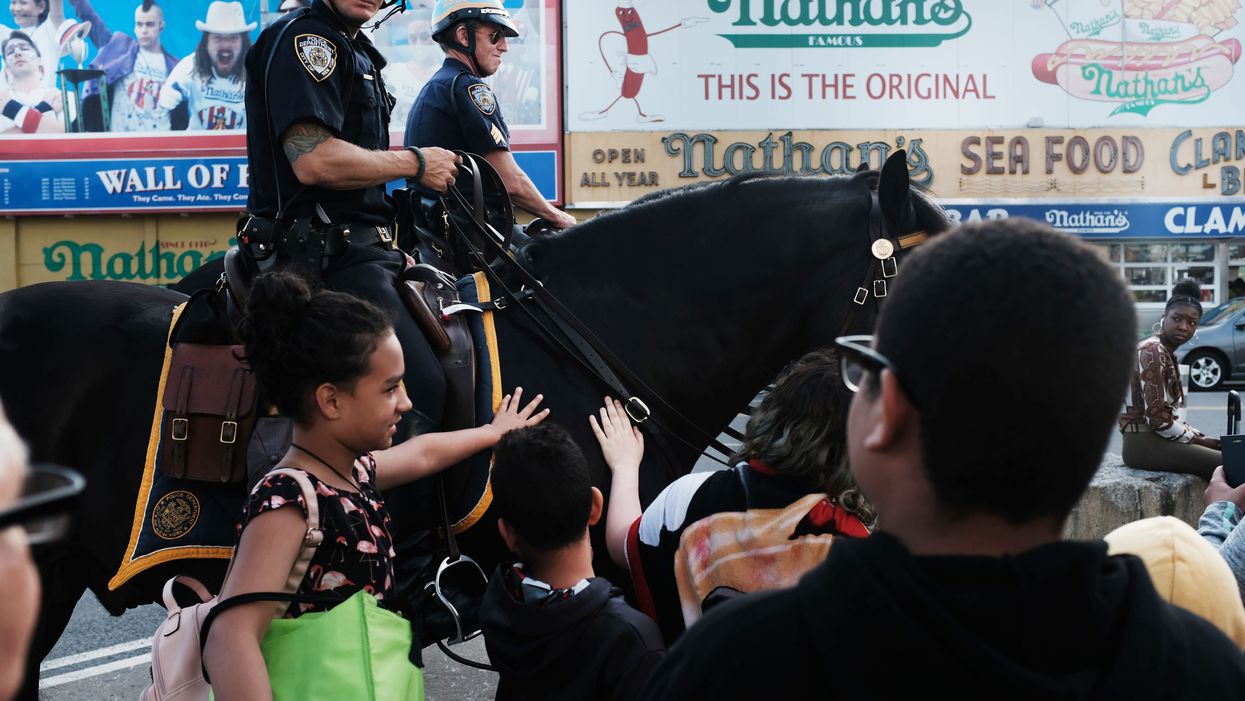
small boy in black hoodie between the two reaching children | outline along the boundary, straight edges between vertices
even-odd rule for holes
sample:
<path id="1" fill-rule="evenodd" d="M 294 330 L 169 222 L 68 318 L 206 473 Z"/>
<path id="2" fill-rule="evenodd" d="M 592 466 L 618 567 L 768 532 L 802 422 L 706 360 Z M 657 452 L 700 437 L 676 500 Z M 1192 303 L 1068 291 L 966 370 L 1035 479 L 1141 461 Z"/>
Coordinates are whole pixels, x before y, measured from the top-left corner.
<path id="1" fill-rule="evenodd" d="M 543 423 L 497 445 L 497 528 L 519 562 L 493 573 L 481 605 L 498 699 L 637 699 L 665 654 L 657 625 L 593 573 L 588 527 L 603 498 L 565 428 Z"/>

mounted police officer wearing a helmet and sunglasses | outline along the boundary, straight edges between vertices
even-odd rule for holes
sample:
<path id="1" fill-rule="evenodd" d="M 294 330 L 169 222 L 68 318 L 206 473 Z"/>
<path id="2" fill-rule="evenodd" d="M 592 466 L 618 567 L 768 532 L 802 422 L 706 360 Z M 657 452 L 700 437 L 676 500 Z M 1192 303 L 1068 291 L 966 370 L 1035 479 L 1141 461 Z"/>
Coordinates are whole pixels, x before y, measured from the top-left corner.
<path id="1" fill-rule="evenodd" d="M 500 0 L 437 0 L 432 39 L 446 54 L 441 70 L 420 92 L 406 122 L 407 147 L 441 146 L 483 156 L 515 204 L 564 229 L 575 218 L 540 195 L 510 153 L 510 131 L 483 78 L 502 65 L 507 39 L 519 35 Z M 417 189 L 432 197 L 426 186 Z"/>

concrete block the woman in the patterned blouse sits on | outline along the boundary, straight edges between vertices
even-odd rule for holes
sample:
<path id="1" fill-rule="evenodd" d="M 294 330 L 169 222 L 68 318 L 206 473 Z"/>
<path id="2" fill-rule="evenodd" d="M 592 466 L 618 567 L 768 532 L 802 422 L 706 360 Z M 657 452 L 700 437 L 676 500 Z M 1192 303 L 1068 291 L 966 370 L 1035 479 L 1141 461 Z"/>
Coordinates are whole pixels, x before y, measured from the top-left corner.
<path id="1" fill-rule="evenodd" d="M 1098 473 L 1063 528 L 1077 540 L 1102 538 L 1120 525 L 1152 515 L 1174 515 L 1196 528 L 1205 508 L 1206 482 L 1191 474 L 1147 472 L 1124 466 L 1114 453 L 1103 456 Z"/>

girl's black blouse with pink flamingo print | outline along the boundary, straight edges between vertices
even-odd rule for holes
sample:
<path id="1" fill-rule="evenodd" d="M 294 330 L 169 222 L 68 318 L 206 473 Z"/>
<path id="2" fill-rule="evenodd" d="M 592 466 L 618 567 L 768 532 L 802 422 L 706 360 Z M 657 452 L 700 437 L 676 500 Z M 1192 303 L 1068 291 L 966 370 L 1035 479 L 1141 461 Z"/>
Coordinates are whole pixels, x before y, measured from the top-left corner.
<path id="1" fill-rule="evenodd" d="M 308 573 L 299 585 L 299 594 L 340 594 L 345 600 L 360 589 L 383 600 L 393 590 L 393 538 L 390 535 L 390 517 L 385 501 L 376 489 L 376 461 L 364 456 L 355 461 L 355 479 L 362 492 L 337 489 L 306 473 L 320 502 L 320 522 L 324 542 L 316 548 Z M 303 489 L 288 474 L 265 477 L 251 491 L 243 509 L 242 525 L 256 515 L 296 503 L 306 518 Z M 322 611 L 332 606 L 325 604 L 298 604 L 290 606 L 285 618 L 296 618 L 308 611 Z"/>

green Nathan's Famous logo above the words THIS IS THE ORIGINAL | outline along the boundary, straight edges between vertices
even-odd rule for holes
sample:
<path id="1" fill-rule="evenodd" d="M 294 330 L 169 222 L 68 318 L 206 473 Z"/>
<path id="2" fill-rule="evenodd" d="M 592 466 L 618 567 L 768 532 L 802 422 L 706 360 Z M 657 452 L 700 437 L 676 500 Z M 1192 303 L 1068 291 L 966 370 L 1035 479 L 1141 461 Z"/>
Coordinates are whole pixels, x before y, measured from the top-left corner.
<path id="1" fill-rule="evenodd" d="M 964 36 L 972 16 L 960 0 L 706 0 L 737 27 L 776 32 L 718 35 L 737 49 L 929 47 Z M 798 34 L 793 29 L 812 29 Z M 884 27 L 884 29 L 879 29 Z M 818 31 L 820 29 L 822 31 Z M 891 31 L 885 31 L 891 30 Z"/>

